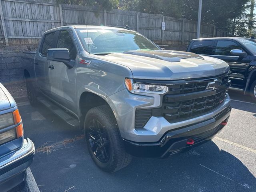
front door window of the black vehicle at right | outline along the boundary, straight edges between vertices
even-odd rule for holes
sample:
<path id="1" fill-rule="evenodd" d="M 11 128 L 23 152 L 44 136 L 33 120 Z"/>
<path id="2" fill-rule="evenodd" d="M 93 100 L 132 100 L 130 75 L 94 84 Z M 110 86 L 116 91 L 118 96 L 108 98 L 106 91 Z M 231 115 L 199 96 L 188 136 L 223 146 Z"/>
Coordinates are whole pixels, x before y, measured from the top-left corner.
<path id="1" fill-rule="evenodd" d="M 229 40 L 218 40 L 215 55 L 230 55 L 232 49 L 242 49 L 242 47 L 236 42 Z"/>

